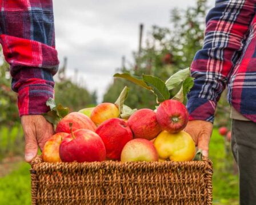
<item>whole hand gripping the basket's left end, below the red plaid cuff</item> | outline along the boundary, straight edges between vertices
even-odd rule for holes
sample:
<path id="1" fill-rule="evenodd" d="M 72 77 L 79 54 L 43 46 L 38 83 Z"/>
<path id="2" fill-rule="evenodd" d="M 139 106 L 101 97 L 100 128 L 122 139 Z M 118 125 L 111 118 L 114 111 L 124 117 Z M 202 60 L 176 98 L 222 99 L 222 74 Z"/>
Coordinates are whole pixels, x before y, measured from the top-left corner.
<path id="1" fill-rule="evenodd" d="M 22 116 L 21 124 L 25 135 L 25 160 L 31 162 L 37 155 L 38 146 L 42 151 L 45 142 L 53 136 L 53 125 L 42 115 Z"/>

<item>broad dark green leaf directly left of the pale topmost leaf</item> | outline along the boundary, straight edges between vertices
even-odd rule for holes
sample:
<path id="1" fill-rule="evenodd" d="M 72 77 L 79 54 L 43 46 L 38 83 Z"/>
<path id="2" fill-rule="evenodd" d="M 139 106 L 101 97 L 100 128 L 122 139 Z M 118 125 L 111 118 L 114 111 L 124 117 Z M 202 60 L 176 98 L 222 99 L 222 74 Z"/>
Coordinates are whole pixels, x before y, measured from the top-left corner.
<path id="1" fill-rule="evenodd" d="M 159 103 L 170 99 L 170 92 L 168 91 L 165 82 L 158 77 L 150 75 L 142 75 L 142 78 L 145 83 L 152 88 L 152 91 L 157 96 L 157 101 Z"/>

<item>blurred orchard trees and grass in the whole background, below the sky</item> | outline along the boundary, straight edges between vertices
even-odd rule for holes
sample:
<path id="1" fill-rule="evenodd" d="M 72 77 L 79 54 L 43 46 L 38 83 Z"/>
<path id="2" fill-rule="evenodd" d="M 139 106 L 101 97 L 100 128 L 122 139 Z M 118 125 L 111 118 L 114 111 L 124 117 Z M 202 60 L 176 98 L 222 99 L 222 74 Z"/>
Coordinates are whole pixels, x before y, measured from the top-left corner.
<path id="1" fill-rule="evenodd" d="M 195 52 L 202 47 L 207 5 L 207 1 L 198 0 L 186 9 L 170 8 L 170 26 L 155 24 L 145 36 L 145 27 L 140 24 L 138 50 L 133 51 L 133 59 L 129 62 L 126 56 L 120 56 L 122 63 L 115 72 L 145 73 L 166 80 L 179 69 L 189 67 Z M 9 65 L 3 61 L 3 56 L 0 58 L 0 204 L 30 204 L 30 165 L 23 162 L 24 141 L 16 106 L 17 95 L 10 88 Z M 70 69 L 67 62 L 69 56 L 61 61 L 55 76 L 55 100 L 69 106 L 71 111 L 93 106 L 102 100 L 114 103 L 125 85 L 130 88 L 127 105 L 154 109 L 156 103 L 152 93 L 121 79 L 113 78 L 100 96 L 98 91 L 85 86 L 85 80 L 77 80 L 80 76 L 78 69 Z M 217 108 L 210 144 L 210 159 L 214 164 L 213 199 L 217 205 L 238 204 L 238 174 L 230 142 L 218 134 L 220 126 L 230 128 L 229 109 L 225 91 Z"/>

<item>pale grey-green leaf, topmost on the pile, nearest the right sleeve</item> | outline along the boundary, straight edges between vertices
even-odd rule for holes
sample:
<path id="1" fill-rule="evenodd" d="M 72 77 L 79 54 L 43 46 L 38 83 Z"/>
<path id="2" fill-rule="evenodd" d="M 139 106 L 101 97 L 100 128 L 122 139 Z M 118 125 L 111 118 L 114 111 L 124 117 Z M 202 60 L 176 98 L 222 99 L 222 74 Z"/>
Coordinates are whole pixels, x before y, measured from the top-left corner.
<path id="1" fill-rule="evenodd" d="M 171 77 L 169 77 L 168 80 L 166 80 L 165 82 L 166 87 L 170 91 L 171 89 L 181 84 L 189 76 L 190 76 L 190 68 L 182 69 L 181 71 L 174 73 Z"/>

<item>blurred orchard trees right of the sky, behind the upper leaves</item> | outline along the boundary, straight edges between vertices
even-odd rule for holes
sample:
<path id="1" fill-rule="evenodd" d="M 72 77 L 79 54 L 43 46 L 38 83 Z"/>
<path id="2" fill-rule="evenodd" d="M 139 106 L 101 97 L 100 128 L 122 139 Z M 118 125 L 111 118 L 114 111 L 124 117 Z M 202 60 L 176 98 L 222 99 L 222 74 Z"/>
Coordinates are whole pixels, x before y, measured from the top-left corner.
<path id="1" fill-rule="evenodd" d="M 118 72 L 129 72 L 138 76 L 144 73 L 165 81 L 179 69 L 189 67 L 195 52 L 202 47 L 205 27 L 202 19 L 205 19 L 206 10 L 206 1 L 202 0 L 186 10 L 172 10 L 170 28 L 153 26 L 141 53 L 134 52 L 134 63 Z M 127 105 L 132 108 L 154 109 L 153 93 L 122 79 L 114 79 L 103 101 L 114 102 L 125 85 L 131 89 L 126 100 Z"/>

